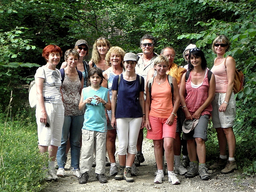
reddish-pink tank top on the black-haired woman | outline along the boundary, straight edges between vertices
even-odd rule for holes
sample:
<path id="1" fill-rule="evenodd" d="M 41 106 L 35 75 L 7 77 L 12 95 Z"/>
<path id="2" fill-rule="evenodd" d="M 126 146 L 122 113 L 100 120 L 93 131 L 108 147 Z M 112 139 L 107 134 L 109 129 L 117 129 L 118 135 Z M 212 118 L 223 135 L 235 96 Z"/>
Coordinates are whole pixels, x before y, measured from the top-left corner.
<path id="1" fill-rule="evenodd" d="M 208 74 L 208 70 L 207 70 Z M 188 81 L 186 82 L 186 95 L 185 95 L 185 102 L 188 107 L 188 111 L 193 115 L 196 110 L 203 105 L 208 97 L 208 77 L 207 74 L 204 77 L 203 84 L 200 87 L 193 88 L 191 86 L 191 73 L 189 74 Z M 204 109 L 201 115 L 211 115 L 212 105 L 208 105 L 206 109 Z"/>

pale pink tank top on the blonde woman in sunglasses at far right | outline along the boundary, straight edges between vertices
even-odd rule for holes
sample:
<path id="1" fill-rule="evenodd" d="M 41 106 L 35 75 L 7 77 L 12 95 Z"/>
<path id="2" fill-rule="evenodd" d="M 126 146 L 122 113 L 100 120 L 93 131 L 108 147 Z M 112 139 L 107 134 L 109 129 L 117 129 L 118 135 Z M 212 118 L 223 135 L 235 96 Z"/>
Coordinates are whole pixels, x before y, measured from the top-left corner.
<path id="1" fill-rule="evenodd" d="M 215 75 L 216 80 L 216 93 L 226 93 L 227 92 L 227 71 L 224 65 L 224 60 L 218 65 L 214 65 L 211 68 L 211 72 Z"/>

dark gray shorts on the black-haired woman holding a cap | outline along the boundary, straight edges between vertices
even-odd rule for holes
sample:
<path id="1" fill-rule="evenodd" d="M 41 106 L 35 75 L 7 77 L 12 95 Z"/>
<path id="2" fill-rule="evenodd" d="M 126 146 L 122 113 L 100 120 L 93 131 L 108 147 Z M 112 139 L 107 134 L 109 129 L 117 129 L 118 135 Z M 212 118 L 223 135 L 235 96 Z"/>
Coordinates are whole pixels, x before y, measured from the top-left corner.
<path id="1" fill-rule="evenodd" d="M 189 133 L 183 133 L 183 139 L 191 140 L 193 138 L 202 138 L 204 141 L 207 141 L 207 127 L 209 122 L 209 115 L 201 115 L 199 122 L 196 125 L 195 129 Z"/>

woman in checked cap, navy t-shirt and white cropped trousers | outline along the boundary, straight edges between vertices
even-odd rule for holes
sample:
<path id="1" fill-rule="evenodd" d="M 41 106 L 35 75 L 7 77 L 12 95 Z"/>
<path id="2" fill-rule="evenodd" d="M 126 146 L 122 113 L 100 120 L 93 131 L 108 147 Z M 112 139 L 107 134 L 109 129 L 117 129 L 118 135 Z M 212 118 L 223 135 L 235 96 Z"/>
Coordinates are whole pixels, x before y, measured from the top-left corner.
<path id="1" fill-rule="evenodd" d="M 144 78 L 135 73 L 137 56 L 124 56 L 125 72 L 114 77 L 112 84 L 112 119 L 119 139 L 118 158 L 120 168 L 116 180 L 133 182 L 131 166 L 136 154 L 136 144 L 140 129 L 144 127 Z M 117 100 L 118 95 L 118 100 Z"/>

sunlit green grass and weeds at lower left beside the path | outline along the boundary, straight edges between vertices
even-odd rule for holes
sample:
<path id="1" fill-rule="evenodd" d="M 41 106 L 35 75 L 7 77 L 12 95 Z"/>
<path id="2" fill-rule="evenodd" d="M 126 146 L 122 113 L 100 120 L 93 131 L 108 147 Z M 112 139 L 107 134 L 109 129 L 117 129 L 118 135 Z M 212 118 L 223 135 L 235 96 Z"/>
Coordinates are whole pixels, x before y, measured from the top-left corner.
<path id="1" fill-rule="evenodd" d="M 0 189 L 3 192 L 39 192 L 44 187 L 43 156 L 37 147 L 35 119 L 20 111 L 16 117 L 0 114 Z M 31 123 L 33 122 L 33 123 Z"/>

